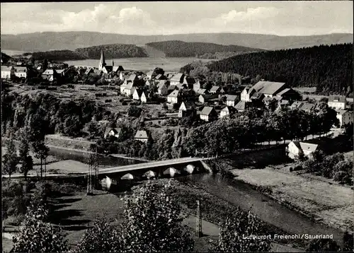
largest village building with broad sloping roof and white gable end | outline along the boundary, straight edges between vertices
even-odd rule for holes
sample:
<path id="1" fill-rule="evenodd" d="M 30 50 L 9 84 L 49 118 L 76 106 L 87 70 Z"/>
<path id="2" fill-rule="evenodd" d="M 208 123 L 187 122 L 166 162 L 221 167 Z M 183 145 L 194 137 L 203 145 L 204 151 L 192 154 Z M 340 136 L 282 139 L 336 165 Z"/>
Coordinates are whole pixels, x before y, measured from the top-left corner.
<path id="1" fill-rule="evenodd" d="M 242 90 L 241 101 L 250 102 L 254 93 L 263 94 L 265 97 L 273 98 L 285 88 L 285 83 L 259 81 L 251 88 L 244 88 L 244 90 Z"/>

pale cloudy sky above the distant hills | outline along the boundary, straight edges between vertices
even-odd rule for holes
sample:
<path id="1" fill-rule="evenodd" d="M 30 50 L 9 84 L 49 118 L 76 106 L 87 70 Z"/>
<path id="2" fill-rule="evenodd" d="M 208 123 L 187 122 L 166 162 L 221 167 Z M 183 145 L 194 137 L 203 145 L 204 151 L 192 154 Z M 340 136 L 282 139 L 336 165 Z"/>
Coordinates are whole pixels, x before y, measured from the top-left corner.
<path id="1" fill-rule="evenodd" d="M 353 1 L 1 3 L 1 34 L 353 33 Z"/>

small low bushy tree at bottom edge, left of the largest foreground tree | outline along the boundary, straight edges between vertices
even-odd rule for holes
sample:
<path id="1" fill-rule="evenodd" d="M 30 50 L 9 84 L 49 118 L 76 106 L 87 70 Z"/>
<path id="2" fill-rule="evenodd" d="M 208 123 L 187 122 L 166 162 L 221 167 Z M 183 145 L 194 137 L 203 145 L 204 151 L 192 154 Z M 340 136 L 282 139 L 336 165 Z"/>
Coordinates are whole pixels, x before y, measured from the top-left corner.
<path id="1" fill-rule="evenodd" d="M 118 230 L 101 219 L 95 220 L 93 228 L 86 230 L 75 252 L 121 252 Z"/>

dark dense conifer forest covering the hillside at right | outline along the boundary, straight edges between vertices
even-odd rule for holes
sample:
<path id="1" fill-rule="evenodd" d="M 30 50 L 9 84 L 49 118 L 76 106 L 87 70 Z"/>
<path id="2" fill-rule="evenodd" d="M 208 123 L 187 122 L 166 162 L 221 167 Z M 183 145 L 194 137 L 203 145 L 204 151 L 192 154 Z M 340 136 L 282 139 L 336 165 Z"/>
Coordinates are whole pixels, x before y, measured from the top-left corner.
<path id="1" fill-rule="evenodd" d="M 316 93 L 353 95 L 353 44 L 241 54 L 206 65 L 209 71 L 261 76 L 292 87 L 316 87 Z M 188 66 L 181 71 L 189 70 Z"/>

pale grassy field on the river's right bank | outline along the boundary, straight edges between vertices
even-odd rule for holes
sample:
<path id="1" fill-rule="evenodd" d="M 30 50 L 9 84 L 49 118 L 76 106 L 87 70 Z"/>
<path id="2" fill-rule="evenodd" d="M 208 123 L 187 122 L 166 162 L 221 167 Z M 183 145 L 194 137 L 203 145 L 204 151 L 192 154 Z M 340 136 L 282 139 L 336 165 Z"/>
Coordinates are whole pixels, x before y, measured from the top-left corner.
<path id="1" fill-rule="evenodd" d="M 270 196 L 274 199 L 322 223 L 353 231 L 353 190 L 348 187 L 272 167 L 263 170 L 232 170 L 232 173 L 236 180 L 258 187 L 269 187 Z"/>

